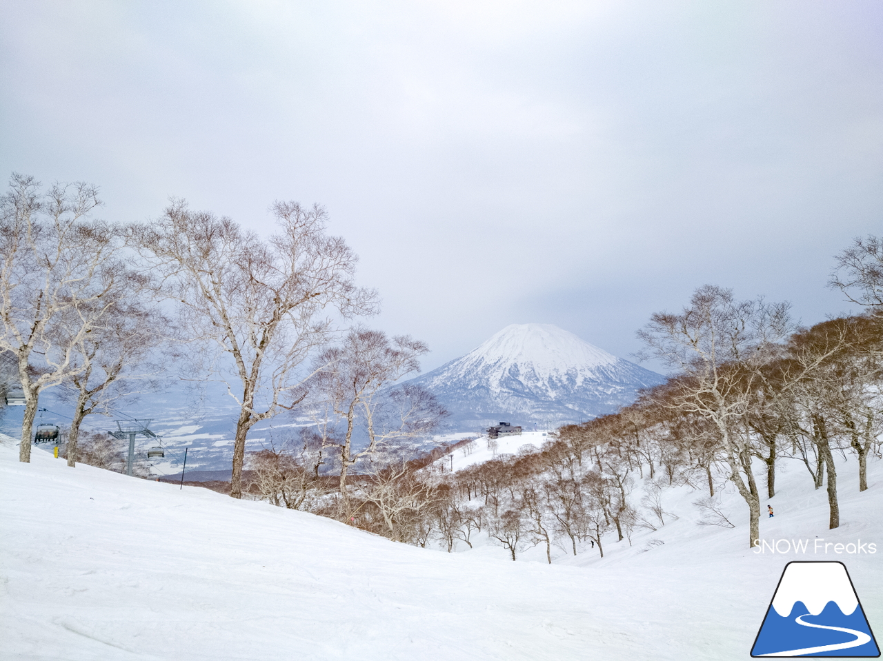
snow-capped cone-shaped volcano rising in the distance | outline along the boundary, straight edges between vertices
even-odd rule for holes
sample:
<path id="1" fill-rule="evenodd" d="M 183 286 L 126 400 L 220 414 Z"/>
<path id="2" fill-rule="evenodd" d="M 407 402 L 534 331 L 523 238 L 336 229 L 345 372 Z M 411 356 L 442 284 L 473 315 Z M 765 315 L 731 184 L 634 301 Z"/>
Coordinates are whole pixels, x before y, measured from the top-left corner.
<path id="1" fill-rule="evenodd" d="M 501 420 L 552 427 L 634 402 L 665 378 L 551 324 L 512 324 L 463 357 L 410 383 L 431 390 L 454 429 Z"/>

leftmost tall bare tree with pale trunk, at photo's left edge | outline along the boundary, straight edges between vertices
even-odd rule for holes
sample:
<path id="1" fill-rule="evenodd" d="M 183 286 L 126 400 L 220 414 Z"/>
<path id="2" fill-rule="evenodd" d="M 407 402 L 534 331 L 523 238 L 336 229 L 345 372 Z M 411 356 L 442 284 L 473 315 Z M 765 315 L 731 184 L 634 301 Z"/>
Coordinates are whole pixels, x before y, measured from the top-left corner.
<path id="1" fill-rule="evenodd" d="M 40 393 L 83 373 L 78 347 L 135 277 L 120 258 L 121 232 L 89 217 L 101 204 L 94 185 L 42 192 L 17 174 L 0 198 L 0 349 L 16 358 L 25 396 L 22 462 L 30 461 Z"/>

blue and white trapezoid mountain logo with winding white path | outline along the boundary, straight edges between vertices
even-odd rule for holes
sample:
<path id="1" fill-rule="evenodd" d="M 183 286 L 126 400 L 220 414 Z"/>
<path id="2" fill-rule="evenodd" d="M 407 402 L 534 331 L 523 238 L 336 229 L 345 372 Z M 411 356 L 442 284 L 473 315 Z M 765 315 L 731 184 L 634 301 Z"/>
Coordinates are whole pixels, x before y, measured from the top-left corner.
<path id="1" fill-rule="evenodd" d="M 880 656 L 842 562 L 785 565 L 751 656 Z"/>

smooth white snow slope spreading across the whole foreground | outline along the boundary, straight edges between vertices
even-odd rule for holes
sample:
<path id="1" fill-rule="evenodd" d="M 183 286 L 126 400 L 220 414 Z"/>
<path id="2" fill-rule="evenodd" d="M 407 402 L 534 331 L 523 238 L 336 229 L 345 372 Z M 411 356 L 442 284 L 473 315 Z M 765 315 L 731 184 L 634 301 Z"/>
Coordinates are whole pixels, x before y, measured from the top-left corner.
<path id="1" fill-rule="evenodd" d="M 499 547 L 445 553 L 313 515 L 196 487 L 147 482 L 0 445 L 0 658 L 12 659 L 747 659 L 789 560 L 841 560 L 878 642 L 883 634 L 883 466 L 841 463 L 841 528 L 824 490 L 784 465 L 767 540 L 680 515 L 607 557 L 559 550 L 549 566 Z M 803 472 L 801 472 L 803 471 Z M 766 508 L 766 501 L 764 502 Z M 877 545 L 812 553 L 812 540 Z M 656 541 L 652 541 L 656 540 Z M 536 559 L 536 550 L 524 560 Z"/>

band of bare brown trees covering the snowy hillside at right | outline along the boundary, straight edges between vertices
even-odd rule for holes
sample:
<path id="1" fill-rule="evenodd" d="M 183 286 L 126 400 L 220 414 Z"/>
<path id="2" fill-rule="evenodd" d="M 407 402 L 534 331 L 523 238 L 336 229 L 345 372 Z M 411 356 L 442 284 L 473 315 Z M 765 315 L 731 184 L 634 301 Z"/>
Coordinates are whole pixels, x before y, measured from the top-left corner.
<path id="1" fill-rule="evenodd" d="M 856 456 L 860 491 L 868 488 L 869 458 L 880 458 L 879 239 L 857 239 L 841 252 L 831 284 L 862 304 L 864 313 L 799 328 L 788 304 L 740 301 L 728 289 L 700 287 L 682 311 L 653 314 L 638 332 L 645 355 L 672 370 L 665 384 L 645 391 L 638 402 L 614 415 L 564 426 L 544 447 L 526 447 L 517 456 L 499 455 L 456 473 L 442 470 L 444 462 L 433 469 L 388 457 L 381 469 L 353 481 L 343 497 L 347 521 L 448 551 L 457 543 L 472 546 L 481 532 L 512 560 L 525 546 L 538 544 L 549 561 L 554 545 L 576 554 L 579 545 L 589 544 L 603 556 L 606 536 L 622 541 L 636 528 L 665 525 L 672 516 L 663 507 L 669 486 L 688 484 L 703 494 L 694 503 L 702 524 L 735 527 L 743 515 L 721 507 L 721 485 L 729 482 L 745 503 L 751 546 L 759 537 L 761 502 L 775 495 L 776 469 L 793 460 L 805 467 L 815 488 L 826 486 L 827 523 L 836 528 L 834 455 Z M 355 387 L 340 399 L 345 405 L 338 410 L 351 410 L 357 392 Z M 313 470 L 320 440 L 305 434 L 255 455 L 259 497 L 337 515 L 343 480 L 331 484 Z M 475 442 L 449 452 L 469 454 Z M 636 480 L 644 483 L 639 498 Z"/>

